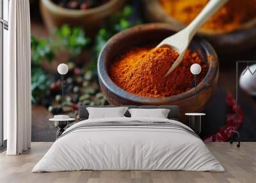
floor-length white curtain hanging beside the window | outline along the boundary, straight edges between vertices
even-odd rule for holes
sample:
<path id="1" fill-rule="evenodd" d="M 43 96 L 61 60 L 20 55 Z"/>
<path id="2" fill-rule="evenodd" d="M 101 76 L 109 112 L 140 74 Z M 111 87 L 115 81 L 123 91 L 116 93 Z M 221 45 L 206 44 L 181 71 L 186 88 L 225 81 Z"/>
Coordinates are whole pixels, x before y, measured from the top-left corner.
<path id="1" fill-rule="evenodd" d="M 31 143 L 31 59 L 29 0 L 11 0 L 8 60 L 4 61 L 4 120 L 8 155 Z"/>

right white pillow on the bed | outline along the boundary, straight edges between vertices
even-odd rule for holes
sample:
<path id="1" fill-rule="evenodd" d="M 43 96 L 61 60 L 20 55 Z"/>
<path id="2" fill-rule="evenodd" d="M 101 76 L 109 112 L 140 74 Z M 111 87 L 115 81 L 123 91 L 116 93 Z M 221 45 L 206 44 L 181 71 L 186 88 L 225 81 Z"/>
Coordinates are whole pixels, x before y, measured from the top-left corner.
<path id="1" fill-rule="evenodd" d="M 128 109 L 131 118 L 167 118 L 170 109 Z"/>

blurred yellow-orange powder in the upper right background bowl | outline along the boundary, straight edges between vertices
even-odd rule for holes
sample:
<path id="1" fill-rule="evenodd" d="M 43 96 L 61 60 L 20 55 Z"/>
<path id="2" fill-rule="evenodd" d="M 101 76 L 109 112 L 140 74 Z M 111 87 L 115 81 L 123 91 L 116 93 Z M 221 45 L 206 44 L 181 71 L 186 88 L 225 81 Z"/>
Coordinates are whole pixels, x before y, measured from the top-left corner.
<path id="1" fill-rule="evenodd" d="M 209 0 L 159 0 L 166 13 L 189 24 Z M 232 31 L 256 17 L 256 0 L 230 0 L 203 26 L 204 30 Z"/>

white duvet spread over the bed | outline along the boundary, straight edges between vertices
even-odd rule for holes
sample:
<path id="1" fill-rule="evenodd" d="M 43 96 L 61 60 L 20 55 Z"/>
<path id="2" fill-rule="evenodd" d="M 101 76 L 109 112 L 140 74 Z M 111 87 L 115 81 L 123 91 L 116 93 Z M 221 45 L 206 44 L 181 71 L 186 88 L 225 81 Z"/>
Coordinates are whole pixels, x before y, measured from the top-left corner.
<path id="1" fill-rule="evenodd" d="M 93 122 L 170 122 L 163 118 L 84 120 L 57 139 L 32 172 L 72 170 L 225 171 L 204 142 L 189 132 L 168 127 L 94 127 Z M 69 132 L 68 132 L 69 131 Z"/>

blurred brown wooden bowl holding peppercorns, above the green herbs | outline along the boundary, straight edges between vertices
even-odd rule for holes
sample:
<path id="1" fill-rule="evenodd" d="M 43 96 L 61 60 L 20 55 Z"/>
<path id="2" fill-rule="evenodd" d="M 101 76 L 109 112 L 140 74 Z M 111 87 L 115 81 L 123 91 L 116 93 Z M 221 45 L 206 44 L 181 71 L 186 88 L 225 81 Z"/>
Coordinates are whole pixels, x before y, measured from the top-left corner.
<path id="1" fill-rule="evenodd" d="M 84 28 L 86 35 L 93 36 L 109 16 L 124 8 L 125 0 L 110 0 L 108 3 L 88 10 L 62 8 L 51 0 L 41 0 L 40 5 L 45 26 L 49 31 L 68 24 Z"/>

